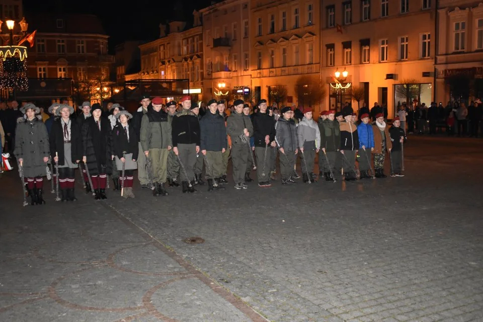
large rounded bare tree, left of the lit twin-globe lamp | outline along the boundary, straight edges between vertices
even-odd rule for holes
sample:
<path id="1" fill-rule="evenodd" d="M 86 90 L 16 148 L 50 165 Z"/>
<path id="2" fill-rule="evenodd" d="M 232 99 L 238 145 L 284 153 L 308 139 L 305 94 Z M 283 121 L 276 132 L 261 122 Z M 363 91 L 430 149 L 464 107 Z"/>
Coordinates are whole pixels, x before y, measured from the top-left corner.
<path id="1" fill-rule="evenodd" d="M 301 106 L 319 104 L 327 95 L 325 85 L 316 76 L 302 75 L 295 82 L 295 95 Z"/>

